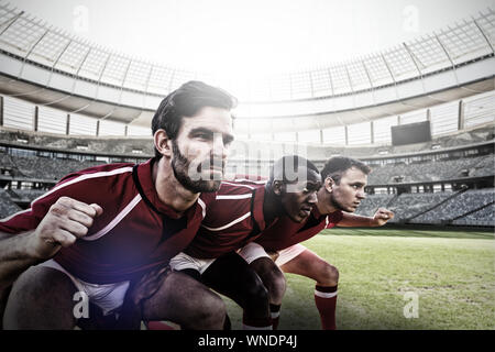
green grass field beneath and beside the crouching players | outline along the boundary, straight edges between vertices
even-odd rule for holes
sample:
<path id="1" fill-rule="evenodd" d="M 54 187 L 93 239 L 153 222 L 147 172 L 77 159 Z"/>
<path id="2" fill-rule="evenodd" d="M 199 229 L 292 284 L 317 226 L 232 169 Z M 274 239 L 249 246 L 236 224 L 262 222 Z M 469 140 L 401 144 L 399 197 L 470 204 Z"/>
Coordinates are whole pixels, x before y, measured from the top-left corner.
<path id="1" fill-rule="evenodd" d="M 332 229 L 304 244 L 339 268 L 339 329 L 495 329 L 493 232 Z M 279 329 L 320 329 L 315 283 L 286 277 Z M 405 318 L 406 293 L 417 318 Z M 242 310 L 226 304 L 241 329 Z"/>

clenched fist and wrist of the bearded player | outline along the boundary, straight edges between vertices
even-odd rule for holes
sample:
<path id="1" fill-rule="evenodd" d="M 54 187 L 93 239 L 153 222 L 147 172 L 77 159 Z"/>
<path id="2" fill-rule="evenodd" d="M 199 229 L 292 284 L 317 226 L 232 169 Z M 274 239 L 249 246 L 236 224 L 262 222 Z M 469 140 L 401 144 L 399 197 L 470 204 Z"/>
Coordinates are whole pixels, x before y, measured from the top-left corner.
<path id="1" fill-rule="evenodd" d="M 54 256 L 61 248 L 73 245 L 77 239 L 85 237 L 95 218 L 102 212 L 103 209 L 96 204 L 87 205 L 69 197 L 61 197 L 34 230 L 29 252 L 41 260 Z"/>

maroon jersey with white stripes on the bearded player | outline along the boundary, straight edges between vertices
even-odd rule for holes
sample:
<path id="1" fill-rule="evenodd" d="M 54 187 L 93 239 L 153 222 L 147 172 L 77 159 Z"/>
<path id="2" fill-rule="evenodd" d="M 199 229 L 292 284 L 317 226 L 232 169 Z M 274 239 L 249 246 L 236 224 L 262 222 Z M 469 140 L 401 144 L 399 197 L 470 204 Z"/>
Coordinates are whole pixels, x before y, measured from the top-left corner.
<path id="1" fill-rule="evenodd" d="M 209 198 L 198 199 L 178 218 L 158 199 L 152 179 L 153 162 L 135 167 L 109 164 L 70 174 L 35 199 L 30 209 L 0 220 L 0 231 L 35 229 L 50 207 L 67 196 L 103 208 L 86 237 L 54 256 L 70 274 L 88 283 L 109 284 L 167 263 L 195 237 Z"/>

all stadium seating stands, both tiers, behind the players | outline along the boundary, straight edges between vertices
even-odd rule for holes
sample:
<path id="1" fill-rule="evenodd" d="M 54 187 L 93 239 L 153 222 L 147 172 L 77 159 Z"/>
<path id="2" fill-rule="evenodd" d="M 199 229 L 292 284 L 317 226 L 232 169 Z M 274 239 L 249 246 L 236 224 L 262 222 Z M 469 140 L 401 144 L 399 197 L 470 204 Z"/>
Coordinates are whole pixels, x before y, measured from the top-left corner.
<path id="1" fill-rule="evenodd" d="M 479 128 L 431 142 L 387 147 L 329 147 L 237 141 L 227 163 L 235 174 L 268 176 L 273 161 L 302 154 L 321 169 L 333 154 L 358 156 L 373 172 L 359 213 L 394 209 L 393 222 L 493 227 L 494 132 Z M 0 218 L 22 208 L 64 175 L 103 163 L 139 163 L 152 139 L 88 138 L 0 129 Z"/>

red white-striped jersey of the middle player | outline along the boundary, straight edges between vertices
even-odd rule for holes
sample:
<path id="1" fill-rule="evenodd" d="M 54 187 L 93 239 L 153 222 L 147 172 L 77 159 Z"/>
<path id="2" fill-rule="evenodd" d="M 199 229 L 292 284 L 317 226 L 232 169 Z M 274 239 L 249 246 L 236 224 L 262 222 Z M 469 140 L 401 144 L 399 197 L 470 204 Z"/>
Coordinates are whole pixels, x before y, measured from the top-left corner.
<path id="1" fill-rule="evenodd" d="M 196 238 L 184 252 L 197 258 L 213 258 L 256 239 L 265 229 L 264 198 L 263 180 L 222 182 L 216 199 L 208 202 Z"/>

